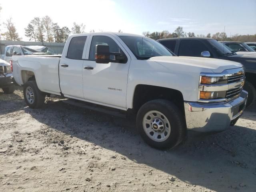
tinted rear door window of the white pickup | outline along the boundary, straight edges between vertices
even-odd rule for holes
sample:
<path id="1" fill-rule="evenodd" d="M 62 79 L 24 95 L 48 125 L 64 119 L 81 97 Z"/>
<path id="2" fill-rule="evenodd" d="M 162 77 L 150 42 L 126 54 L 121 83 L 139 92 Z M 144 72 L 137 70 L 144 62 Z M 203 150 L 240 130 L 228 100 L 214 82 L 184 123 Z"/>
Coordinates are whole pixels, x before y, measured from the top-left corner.
<path id="1" fill-rule="evenodd" d="M 82 59 L 87 36 L 73 37 L 69 43 L 67 58 Z"/>

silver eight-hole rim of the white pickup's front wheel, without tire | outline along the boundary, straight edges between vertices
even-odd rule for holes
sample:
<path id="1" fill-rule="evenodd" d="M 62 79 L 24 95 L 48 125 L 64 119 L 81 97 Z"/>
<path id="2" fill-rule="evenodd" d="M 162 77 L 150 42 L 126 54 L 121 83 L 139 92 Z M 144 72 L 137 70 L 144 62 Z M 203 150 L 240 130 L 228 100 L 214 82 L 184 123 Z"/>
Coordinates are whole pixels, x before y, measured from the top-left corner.
<path id="1" fill-rule="evenodd" d="M 159 111 L 149 111 L 143 117 L 143 128 L 147 136 L 156 142 L 163 142 L 170 136 L 169 120 Z"/>

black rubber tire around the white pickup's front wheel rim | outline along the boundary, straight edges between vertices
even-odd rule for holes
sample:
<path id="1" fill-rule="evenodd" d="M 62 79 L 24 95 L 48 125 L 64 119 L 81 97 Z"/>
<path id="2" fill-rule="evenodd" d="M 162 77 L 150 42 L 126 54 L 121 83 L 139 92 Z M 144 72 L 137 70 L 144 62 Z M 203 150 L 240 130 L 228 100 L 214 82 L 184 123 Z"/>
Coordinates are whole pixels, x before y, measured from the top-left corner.
<path id="1" fill-rule="evenodd" d="M 152 140 L 144 131 L 143 118 L 148 112 L 154 110 L 164 114 L 164 116 L 166 116 L 167 120 L 170 122 L 170 135 L 162 142 Z M 136 124 L 143 140 L 148 145 L 157 149 L 173 148 L 180 144 L 186 135 L 186 123 L 184 115 L 174 103 L 168 100 L 157 99 L 145 103 L 138 111 Z M 153 130 L 153 126 L 149 128 Z M 156 132 L 156 134 L 158 133 Z"/>

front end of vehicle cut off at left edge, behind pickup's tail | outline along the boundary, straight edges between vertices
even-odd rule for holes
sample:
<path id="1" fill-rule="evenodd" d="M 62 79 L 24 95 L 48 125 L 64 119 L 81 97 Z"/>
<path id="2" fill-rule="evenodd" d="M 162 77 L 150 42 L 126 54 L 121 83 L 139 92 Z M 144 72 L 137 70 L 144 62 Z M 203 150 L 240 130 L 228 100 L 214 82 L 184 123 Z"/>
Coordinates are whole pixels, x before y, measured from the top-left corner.
<path id="1" fill-rule="evenodd" d="M 13 93 L 12 65 L 0 59 L 0 88 L 4 93 Z"/>

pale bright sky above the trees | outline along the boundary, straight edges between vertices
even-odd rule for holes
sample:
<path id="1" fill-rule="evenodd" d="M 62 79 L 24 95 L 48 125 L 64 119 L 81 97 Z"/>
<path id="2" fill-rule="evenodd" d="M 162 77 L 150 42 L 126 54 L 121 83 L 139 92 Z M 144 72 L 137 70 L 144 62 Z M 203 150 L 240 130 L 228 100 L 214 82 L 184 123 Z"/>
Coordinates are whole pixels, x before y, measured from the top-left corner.
<path id="1" fill-rule="evenodd" d="M 10 16 L 22 40 L 24 28 L 34 17 L 48 15 L 60 27 L 84 23 L 85 31 L 142 34 L 182 26 L 185 32 L 256 34 L 256 0 L 45 0 L 0 1 L 0 23 Z M 1 26 L 1 32 L 6 29 Z"/>

